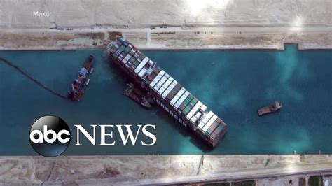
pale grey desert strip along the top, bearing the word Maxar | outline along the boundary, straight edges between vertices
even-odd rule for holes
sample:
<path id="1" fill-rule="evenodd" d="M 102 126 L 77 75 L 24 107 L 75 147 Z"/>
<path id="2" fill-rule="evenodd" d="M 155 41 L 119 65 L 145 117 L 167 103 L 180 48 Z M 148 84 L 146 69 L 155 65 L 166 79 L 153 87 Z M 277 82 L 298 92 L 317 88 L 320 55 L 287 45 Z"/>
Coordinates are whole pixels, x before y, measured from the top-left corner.
<path id="1" fill-rule="evenodd" d="M 329 0 L 1 0 L 0 26 L 12 28 L 168 26 L 332 26 Z M 33 17 L 33 11 L 51 12 Z"/>

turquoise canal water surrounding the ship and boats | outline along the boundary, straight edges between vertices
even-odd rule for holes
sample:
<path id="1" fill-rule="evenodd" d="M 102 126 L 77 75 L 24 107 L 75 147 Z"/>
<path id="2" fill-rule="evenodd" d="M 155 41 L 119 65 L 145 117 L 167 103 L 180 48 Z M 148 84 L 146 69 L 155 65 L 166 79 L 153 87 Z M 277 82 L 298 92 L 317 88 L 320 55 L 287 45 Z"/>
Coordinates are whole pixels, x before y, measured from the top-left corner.
<path id="1" fill-rule="evenodd" d="M 145 110 L 122 95 L 125 76 L 104 62 L 102 50 L 2 51 L 0 56 L 63 94 L 90 52 L 95 71 L 81 102 L 62 100 L 0 63 L 0 155 L 36 155 L 29 128 L 43 115 L 62 117 L 71 128 L 65 155 L 332 153 L 332 52 L 276 50 L 148 50 L 171 76 L 228 124 L 226 138 L 208 150 L 161 108 Z M 272 101 L 282 110 L 258 117 Z M 155 124 L 157 143 L 74 146 L 74 124 Z M 98 132 L 97 132 L 98 134 Z M 99 140 L 97 140 L 99 141 Z"/>

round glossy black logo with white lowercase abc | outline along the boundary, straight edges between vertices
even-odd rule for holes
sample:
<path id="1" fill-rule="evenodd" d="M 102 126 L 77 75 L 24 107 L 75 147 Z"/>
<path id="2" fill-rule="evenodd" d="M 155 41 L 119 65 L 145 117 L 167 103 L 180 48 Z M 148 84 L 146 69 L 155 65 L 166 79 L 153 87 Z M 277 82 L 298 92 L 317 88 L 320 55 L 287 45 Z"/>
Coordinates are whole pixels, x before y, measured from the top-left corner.
<path id="1" fill-rule="evenodd" d="M 67 150 L 70 143 L 70 129 L 60 117 L 47 115 L 32 124 L 29 140 L 39 155 L 56 157 Z"/>

